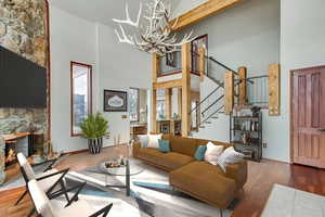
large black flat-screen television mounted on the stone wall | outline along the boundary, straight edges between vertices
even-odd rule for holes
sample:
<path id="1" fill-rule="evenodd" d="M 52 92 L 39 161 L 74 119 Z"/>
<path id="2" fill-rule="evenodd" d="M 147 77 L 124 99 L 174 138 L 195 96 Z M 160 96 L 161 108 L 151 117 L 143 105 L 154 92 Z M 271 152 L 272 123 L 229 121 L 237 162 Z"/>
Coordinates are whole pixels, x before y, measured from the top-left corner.
<path id="1" fill-rule="evenodd" d="M 0 46 L 0 107 L 47 106 L 47 69 Z"/>

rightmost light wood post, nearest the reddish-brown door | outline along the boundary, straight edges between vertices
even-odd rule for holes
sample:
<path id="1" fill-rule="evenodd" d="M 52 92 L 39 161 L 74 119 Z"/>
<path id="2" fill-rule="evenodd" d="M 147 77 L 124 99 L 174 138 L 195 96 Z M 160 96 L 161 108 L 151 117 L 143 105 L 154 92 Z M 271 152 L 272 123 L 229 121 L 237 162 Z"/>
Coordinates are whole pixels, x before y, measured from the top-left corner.
<path id="1" fill-rule="evenodd" d="M 281 69 L 280 64 L 269 65 L 269 115 L 281 114 Z"/>

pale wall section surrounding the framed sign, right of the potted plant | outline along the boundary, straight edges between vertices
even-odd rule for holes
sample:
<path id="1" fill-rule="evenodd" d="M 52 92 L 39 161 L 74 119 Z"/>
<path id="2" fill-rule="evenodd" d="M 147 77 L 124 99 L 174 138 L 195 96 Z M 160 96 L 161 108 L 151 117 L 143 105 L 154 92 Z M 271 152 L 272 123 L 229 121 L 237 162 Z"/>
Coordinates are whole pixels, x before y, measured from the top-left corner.
<path id="1" fill-rule="evenodd" d="M 98 24 L 100 99 L 104 89 L 128 91 L 130 87 L 151 87 L 151 55 L 135 50 L 129 44 L 118 43 L 114 29 Z M 103 100 L 100 100 L 100 111 L 103 112 Z M 128 113 L 104 113 L 109 123 L 110 139 L 106 145 L 114 144 L 114 137 L 120 137 L 120 142 L 130 139 L 130 122 L 122 119 Z"/>

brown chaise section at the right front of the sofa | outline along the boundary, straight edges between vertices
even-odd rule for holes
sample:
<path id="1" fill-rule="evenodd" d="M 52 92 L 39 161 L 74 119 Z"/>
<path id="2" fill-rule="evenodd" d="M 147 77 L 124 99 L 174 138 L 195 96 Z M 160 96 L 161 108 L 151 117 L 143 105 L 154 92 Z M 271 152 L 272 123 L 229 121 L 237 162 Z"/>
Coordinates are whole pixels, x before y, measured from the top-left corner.
<path id="1" fill-rule="evenodd" d="M 236 184 L 218 166 L 193 162 L 169 174 L 170 183 L 194 196 L 225 208 L 235 196 Z"/>

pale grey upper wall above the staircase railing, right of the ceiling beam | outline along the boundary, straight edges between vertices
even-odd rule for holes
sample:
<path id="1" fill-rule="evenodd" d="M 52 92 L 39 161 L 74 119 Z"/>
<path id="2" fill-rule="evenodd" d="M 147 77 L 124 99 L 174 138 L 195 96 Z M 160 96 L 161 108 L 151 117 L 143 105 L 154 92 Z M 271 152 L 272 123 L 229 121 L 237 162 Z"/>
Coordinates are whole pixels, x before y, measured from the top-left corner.
<path id="1" fill-rule="evenodd" d="M 245 0 L 188 27 L 195 36 L 208 34 L 208 52 L 233 69 L 266 74 L 280 63 L 280 0 Z"/>

